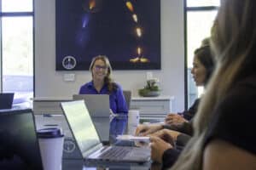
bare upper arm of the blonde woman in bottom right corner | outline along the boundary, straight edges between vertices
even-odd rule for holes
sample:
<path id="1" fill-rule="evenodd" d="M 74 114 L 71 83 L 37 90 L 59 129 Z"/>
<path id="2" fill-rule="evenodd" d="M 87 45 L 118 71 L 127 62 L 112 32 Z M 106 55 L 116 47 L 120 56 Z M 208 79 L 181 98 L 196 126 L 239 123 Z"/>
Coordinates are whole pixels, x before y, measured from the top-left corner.
<path id="1" fill-rule="evenodd" d="M 207 144 L 203 155 L 204 170 L 255 170 L 256 156 L 234 144 L 214 139 Z"/>

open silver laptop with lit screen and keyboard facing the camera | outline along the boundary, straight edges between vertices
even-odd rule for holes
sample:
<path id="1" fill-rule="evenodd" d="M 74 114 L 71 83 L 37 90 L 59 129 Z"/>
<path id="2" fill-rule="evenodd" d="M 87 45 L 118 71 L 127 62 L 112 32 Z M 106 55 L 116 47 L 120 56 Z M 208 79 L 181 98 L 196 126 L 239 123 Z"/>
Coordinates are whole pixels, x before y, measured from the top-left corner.
<path id="1" fill-rule="evenodd" d="M 103 146 L 84 100 L 62 102 L 61 108 L 73 133 L 85 164 L 144 163 L 150 160 L 148 147 Z M 119 153 L 119 155 L 115 155 Z"/>

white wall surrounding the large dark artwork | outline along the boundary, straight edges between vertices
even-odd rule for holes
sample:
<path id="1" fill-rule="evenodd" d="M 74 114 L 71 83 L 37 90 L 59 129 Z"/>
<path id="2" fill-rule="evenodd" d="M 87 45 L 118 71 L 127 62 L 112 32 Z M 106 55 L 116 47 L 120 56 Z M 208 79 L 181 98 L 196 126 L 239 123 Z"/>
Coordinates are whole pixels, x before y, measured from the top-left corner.
<path id="1" fill-rule="evenodd" d="M 163 95 L 176 98 L 176 109 L 184 106 L 183 1 L 161 0 L 161 70 L 152 71 L 160 79 Z M 74 73 L 74 82 L 63 75 Z M 113 71 L 113 79 L 137 96 L 143 88 L 147 71 Z M 55 71 L 55 0 L 35 0 L 35 91 L 36 98 L 71 98 L 89 71 Z"/>

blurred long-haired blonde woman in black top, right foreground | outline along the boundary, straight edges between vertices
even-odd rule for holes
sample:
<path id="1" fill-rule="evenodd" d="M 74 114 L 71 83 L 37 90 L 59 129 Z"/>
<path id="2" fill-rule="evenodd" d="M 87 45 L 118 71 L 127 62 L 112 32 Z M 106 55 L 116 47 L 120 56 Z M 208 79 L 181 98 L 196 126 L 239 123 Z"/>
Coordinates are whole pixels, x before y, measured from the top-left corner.
<path id="1" fill-rule="evenodd" d="M 172 170 L 256 169 L 256 1 L 222 0 L 212 27 L 218 65 Z"/>

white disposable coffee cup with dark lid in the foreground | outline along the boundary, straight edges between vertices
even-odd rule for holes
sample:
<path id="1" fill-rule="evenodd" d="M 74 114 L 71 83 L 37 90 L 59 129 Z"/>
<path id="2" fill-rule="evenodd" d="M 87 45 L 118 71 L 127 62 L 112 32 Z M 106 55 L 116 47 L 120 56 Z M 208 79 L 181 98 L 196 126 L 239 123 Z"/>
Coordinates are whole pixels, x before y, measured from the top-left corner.
<path id="1" fill-rule="evenodd" d="M 61 170 L 64 135 L 61 128 L 38 130 L 38 143 L 44 170 Z"/>

